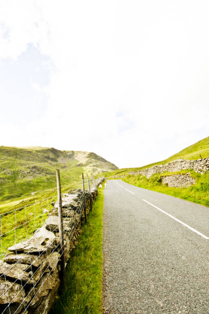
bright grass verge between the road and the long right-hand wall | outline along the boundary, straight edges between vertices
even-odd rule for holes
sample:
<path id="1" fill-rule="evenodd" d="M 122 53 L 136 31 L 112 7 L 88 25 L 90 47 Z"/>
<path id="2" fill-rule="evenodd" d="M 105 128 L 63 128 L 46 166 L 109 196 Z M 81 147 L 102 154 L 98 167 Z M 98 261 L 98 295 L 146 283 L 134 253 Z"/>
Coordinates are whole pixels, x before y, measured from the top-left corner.
<path id="1" fill-rule="evenodd" d="M 187 188 L 171 188 L 165 185 L 162 185 L 160 177 L 163 175 L 173 175 L 177 173 L 186 173 L 190 172 L 191 176 L 195 178 L 196 184 Z M 178 197 L 183 200 L 191 201 L 194 203 L 198 203 L 204 206 L 209 207 L 209 172 L 205 174 L 196 173 L 193 170 L 184 170 L 178 172 L 164 172 L 153 174 L 149 179 L 143 175 L 130 175 L 124 176 L 122 178 L 123 181 L 130 183 L 132 185 L 173 195 L 174 197 Z"/>

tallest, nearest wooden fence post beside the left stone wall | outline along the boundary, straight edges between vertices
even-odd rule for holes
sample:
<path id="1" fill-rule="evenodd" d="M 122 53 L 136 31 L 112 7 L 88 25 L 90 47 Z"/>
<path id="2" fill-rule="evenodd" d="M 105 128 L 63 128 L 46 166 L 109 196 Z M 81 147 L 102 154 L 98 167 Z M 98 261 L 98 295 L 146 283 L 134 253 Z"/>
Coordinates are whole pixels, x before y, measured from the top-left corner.
<path id="1" fill-rule="evenodd" d="M 58 188 L 58 218 L 59 218 L 59 232 L 60 232 L 60 254 L 61 254 L 61 285 L 62 289 L 66 287 L 66 273 L 65 273 L 65 248 L 63 235 L 63 209 L 62 209 L 62 195 L 60 183 L 60 170 L 56 169 L 56 185 Z"/>

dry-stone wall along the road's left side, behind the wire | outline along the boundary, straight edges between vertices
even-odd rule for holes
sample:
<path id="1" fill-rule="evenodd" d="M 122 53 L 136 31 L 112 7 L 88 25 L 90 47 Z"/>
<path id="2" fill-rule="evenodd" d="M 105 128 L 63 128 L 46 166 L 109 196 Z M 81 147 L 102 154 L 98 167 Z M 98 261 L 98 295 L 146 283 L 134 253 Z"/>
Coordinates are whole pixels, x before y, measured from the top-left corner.
<path id="1" fill-rule="evenodd" d="M 98 184 L 103 181 L 101 179 Z M 83 199 L 87 214 L 97 189 L 83 193 L 71 190 L 62 198 L 65 262 L 78 244 L 84 220 Z M 30 239 L 8 248 L 0 260 L 0 312 L 48 313 L 60 286 L 60 234 L 58 204 L 52 203 L 45 224 Z"/>

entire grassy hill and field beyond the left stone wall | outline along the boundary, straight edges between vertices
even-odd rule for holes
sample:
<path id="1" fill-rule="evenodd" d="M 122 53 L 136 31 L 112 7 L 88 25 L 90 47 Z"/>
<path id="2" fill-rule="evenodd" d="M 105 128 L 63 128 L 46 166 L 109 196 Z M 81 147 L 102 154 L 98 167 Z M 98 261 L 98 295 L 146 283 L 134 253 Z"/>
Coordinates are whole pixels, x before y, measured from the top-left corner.
<path id="1" fill-rule="evenodd" d="M 0 214 L 10 212 L 1 218 L 0 232 L 5 233 L 1 237 L 1 253 L 4 254 L 8 246 L 15 244 L 15 239 L 24 240 L 42 225 L 45 220 L 42 207 L 46 207 L 43 200 L 56 197 L 56 168 L 60 169 L 62 192 L 80 183 L 82 172 L 86 176 L 85 171 L 90 171 L 89 165 L 93 165 L 95 171 L 116 168 L 94 153 L 79 152 L 79 158 L 83 158 L 82 166 L 80 160 L 75 159 L 75 153 L 44 147 L 0 146 Z M 29 206 L 32 203 L 37 203 L 36 214 L 33 206 Z M 18 226 L 16 231 L 13 230 L 15 226 Z"/>

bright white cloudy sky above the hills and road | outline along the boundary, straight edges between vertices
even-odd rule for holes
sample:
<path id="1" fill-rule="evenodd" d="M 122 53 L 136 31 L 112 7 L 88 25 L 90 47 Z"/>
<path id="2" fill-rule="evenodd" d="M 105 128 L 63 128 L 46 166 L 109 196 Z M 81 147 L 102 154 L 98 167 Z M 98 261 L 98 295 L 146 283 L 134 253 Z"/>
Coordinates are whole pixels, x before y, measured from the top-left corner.
<path id="1" fill-rule="evenodd" d="M 0 0 L 0 145 L 120 168 L 209 135 L 208 1 Z"/>

